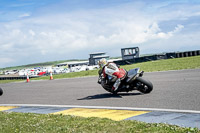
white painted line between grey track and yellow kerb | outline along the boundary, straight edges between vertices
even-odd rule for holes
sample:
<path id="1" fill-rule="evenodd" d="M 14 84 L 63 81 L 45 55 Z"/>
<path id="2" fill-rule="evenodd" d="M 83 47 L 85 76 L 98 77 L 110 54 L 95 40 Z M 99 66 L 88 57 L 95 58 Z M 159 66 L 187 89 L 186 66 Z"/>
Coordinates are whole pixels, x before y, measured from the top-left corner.
<path id="1" fill-rule="evenodd" d="M 133 108 L 133 107 L 109 107 L 109 106 L 79 106 L 79 105 L 43 105 L 43 104 L 0 104 L 0 106 L 26 106 L 26 107 L 68 107 L 68 108 L 95 108 L 95 109 L 116 109 L 116 110 L 136 110 L 136 111 L 164 111 L 176 113 L 196 113 L 197 110 L 177 110 L 177 109 L 159 109 L 159 108 Z"/>

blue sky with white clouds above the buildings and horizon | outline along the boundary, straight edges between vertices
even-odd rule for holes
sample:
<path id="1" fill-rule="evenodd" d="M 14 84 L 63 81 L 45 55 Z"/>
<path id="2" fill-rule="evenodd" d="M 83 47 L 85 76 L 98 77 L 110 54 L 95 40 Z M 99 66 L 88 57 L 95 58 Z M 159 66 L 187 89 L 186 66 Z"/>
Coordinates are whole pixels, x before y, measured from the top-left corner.
<path id="1" fill-rule="evenodd" d="M 0 68 L 200 49 L 199 0 L 0 0 Z"/>

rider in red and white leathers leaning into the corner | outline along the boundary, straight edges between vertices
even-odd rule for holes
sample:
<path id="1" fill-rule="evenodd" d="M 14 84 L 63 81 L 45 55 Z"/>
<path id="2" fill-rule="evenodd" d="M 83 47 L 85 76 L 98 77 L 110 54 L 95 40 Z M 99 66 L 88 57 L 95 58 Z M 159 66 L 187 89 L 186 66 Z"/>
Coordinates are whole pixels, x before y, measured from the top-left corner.
<path id="1" fill-rule="evenodd" d="M 126 71 L 119 68 L 114 62 L 107 62 L 105 58 L 101 59 L 98 64 L 103 73 L 103 77 L 115 81 L 111 91 L 116 92 L 121 84 L 121 80 L 126 76 Z"/>

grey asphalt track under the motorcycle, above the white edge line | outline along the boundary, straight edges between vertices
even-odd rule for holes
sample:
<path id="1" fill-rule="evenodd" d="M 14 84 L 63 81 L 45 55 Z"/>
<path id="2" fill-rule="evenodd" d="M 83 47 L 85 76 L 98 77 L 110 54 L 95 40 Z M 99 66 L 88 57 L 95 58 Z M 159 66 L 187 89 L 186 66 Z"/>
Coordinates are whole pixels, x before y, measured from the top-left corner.
<path id="1" fill-rule="evenodd" d="M 0 104 L 83 105 L 200 111 L 200 69 L 144 73 L 154 89 L 112 95 L 97 77 L 1 84 Z"/>

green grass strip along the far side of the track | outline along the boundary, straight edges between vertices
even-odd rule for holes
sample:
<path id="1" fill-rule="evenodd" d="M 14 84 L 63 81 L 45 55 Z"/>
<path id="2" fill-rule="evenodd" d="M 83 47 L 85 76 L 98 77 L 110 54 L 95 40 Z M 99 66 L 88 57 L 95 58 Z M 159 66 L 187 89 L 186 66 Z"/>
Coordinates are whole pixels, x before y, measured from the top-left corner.
<path id="1" fill-rule="evenodd" d="M 121 66 L 121 68 L 125 68 L 127 70 L 137 68 L 137 67 L 139 67 L 140 70 L 145 71 L 145 72 L 197 69 L 197 68 L 200 68 L 200 56 L 149 61 L 149 62 L 135 63 L 135 64 L 131 64 L 131 65 Z M 97 73 L 98 73 L 98 70 L 73 72 L 73 73 L 53 75 L 53 78 L 61 79 L 61 78 L 94 76 L 94 75 L 97 75 Z M 41 80 L 41 79 L 47 80 L 47 79 L 49 79 L 49 76 L 34 78 L 34 80 Z M 14 81 L 25 81 L 25 80 L 14 80 Z M 11 81 L 10 80 L 0 80 L 0 84 L 1 83 L 9 83 L 9 82 L 13 82 L 13 80 L 11 80 Z"/>

